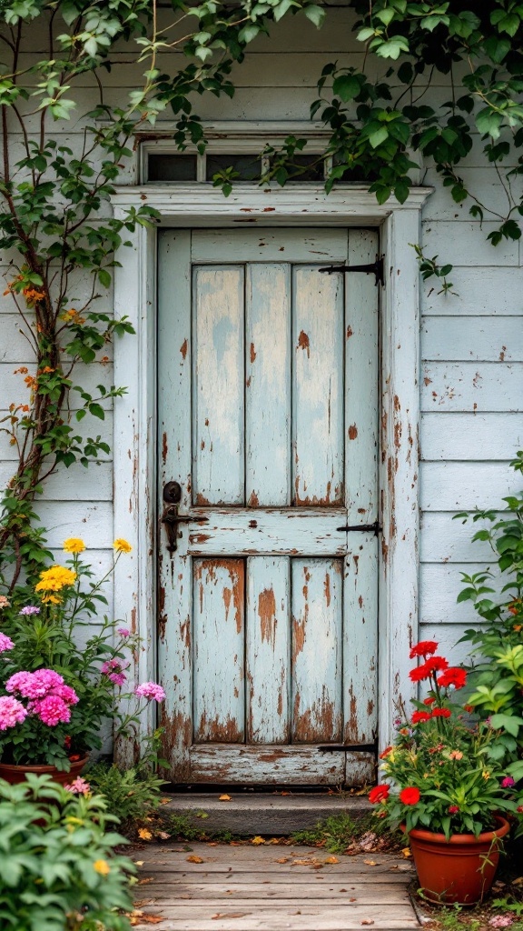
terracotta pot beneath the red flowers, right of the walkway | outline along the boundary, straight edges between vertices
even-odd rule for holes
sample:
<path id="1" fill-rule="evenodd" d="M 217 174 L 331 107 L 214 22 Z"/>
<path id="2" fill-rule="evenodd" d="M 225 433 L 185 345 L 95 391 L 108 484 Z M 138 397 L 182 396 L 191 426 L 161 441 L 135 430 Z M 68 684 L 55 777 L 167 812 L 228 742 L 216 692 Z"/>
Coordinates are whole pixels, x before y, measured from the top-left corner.
<path id="1" fill-rule="evenodd" d="M 489 892 L 500 858 L 501 839 L 510 829 L 496 817 L 498 827 L 474 834 L 445 834 L 413 828 L 410 847 L 422 895 L 441 905 L 476 905 Z"/>

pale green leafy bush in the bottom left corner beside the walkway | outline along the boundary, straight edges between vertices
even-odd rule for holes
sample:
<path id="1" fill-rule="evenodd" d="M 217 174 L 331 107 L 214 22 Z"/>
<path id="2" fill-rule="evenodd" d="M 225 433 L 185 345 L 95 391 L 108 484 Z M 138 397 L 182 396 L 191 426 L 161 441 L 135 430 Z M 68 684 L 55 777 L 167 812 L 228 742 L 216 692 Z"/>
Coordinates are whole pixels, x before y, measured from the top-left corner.
<path id="1" fill-rule="evenodd" d="M 128 875 L 100 796 L 74 796 L 48 776 L 0 782 L 0 924 L 6 931 L 127 931 Z"/>

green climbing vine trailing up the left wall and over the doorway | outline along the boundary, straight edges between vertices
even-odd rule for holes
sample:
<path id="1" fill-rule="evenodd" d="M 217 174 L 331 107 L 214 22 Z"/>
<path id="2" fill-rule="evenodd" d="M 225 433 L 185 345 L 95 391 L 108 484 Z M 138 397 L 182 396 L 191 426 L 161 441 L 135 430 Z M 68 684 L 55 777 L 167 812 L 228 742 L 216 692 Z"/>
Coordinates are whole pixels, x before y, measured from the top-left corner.
<path id="1" fill-rule="evenodd" d="M 366 182 L 380 202 L 390 196 L 403 202 L 420 163 L 434 164 L 456 203 L 467 202 L 479 221 L 495 221 L 493 245 L 519 238 L 523 4 L 353 0 L 349 6 L 365 63 L 361 70 L 327 65 L 311 108 L 330 130 L 327 191 L 339 182 Z M 283 17 L 305 16 L 321 27 L 326 13 L 328 7 L 308 0 L 242 0 L 234 7 L 171 0 L 162 9 L 155 0 L 0 0 L 0 247 L 6 297 L 34 354 L 34 364 L 17 371 L 23 399 L 13 401 L 1 425 L 17 455 L 0 518 L 0 580 L 7 587 L 22 569 L 31 576 L 47 560 L 35 506 L 45 480 L 60 467 L 90 466 L 110 452 L 86 425 L 103 420 L 125 391 L 102 377 L 113 339 L 132 334 L 127 318 L 115 319 L 103 304 L 114 250 L 137 223 L 155 222 L 146 206 L 115 219 L 108 204 L 137 128 L 154 128 L 167 112 L 175 118 L 174 142 L 203 151 L 198 96 L 232 97 L 233 65 Z M 105 100 L 104 79 L 121 51 L 141 65 L 142 80 L 114 106 Z M 376 60 L 378 79 L 369 76 Z M 449 84 L 441 104 L 426 96 L 437 73 Z M 86 74 L 99 101 L 83 114 L 76 88 Z M 72 142 L 55 132 L 57 123 L 74 127 Z M 460 175 L 475 141 L 498 174 L 503 209 L 490 209 Z M 284 184 L 299 174 L 294 162 L 304 144 L 289 136 L 271 150 L 262 183 Z M 234 181 L 232 170 L 215 178 L 224 194 Z M 419 258 L 422 274 L 450 290 L 449 266 Z M 97 387 L 89 387 L 99 381 L 93 370 L 100 372 Z"/>

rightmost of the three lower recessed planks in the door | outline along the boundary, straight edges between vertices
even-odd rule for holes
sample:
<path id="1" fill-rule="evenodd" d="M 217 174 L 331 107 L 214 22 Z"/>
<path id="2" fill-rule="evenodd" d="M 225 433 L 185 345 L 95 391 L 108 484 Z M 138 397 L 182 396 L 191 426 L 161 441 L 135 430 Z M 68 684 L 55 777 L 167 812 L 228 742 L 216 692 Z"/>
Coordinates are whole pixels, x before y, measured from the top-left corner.
<path id="1" fill-rule="evenodd" d="M 342 560 L 291 566 L 292 740 L 341 740 Z"/>

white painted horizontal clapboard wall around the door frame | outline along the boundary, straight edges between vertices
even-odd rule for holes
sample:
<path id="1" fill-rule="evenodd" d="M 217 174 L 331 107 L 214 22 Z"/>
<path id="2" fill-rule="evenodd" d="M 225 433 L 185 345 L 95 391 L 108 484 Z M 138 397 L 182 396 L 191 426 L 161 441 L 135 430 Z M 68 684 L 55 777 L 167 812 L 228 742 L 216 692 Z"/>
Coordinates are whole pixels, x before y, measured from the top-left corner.
<path id="1" fill-rule="evenodd" d="M 361 65 L 360 47 L 350 33 L 351 14 L 345 8 L 329 9 L 326 25 L 317 32 L 307 20 L 290 18 L 268 39 L 262 37 L 246 61 L 235 68 L 237 87 L 233 100 L 209 96 L 197 101 L 204 119 L 292 120 L 307 119 L 315 99 L 315 81 L 328 61 Z M 38 36 L 31 49 L 38 52 Z M 29 49 L 28 49 L 29 52 Z M 105 99 L 122 101 L 133 87 L 140 68 L 121 63 L 105 79 Z M 28 54 L 25 61 L 31 61 Z M 439 85 L 437 82 L 439 81 Z M 96 99 L 94 81 L 82 78 L 78 116 L 53 131 L 76 148 L 86 122 L 84 110 Z M 443 79 L 426 95 L 427 102 L 445 100 Z M 481 189 L 493 209 L 503 205 L 503 188 L 495 171 L 485 167 L 479 140 L 460 168 L 463 180 Z M 127 180 L 134 181 L 129 166 Z M 514 452 L 523 445 L 523 290 L 518 243 L 496 249 L 486 241 L 490 224 L 472 222 L 468 207 L 457 206 L 438 185 L 430 166 L 422 182 L 436 185 L 436 193 L 423 212 L 423 249 L 441 263 L 451 262 L 451 279 L 459 296 L 429 292 L 422 285 L 422 540 L 420 634 L 435 637 L 453 647 L 463 625 L 474 622 L 469 609 L 456 605 L 460 572 L 474 571 L 489 550 L 471 545 L 471 530 L 452 522 L 452 513 L 463 508 L 501 505 L 503 494 L 519 487 L 520 480 L 508 468 Z M 7 255 L 0 255 L 0 271 L 6 272 Z M 87 282 L 79 282 L 79 293 Z M 3 289 L 0 289 L 3 290 Z M 100 304 L 111 306 L 111 296 Z M 27 348 L 17 331 L 17 317 L 8 297 L 0 298 L 0 409 L 11 401 L 22 403 L 25 386 L 13 375 L 27 364 Z M 126 337 L 132 339 L 132 337 Z M 93 385 L 112 382 L 111 365 L 93 367 L 87 373 Z M 116 401 L 116 403 L 118 403 Z M 106 421 L 86 418 L 82 423 L 94 435 L 111 436 L 112 417 Z M 92 435 L 92 434 L 90 434 Z M 14 451 L 0 434 L 0 483 L 13 469 Z M 59 550 L 69 535 L 81 535 L 98 568 L 107 565 L 114 535 L 111 462 L 88 471 L 73 466 L 47 482 L 40 506 L 49 527 L 49 544 Z M 117 613 L 116 606 L 116 613 Z M 463 649 L 463 648 L 462 648 Z M 458 658 L 460 648 L 452 649 Z"/>

